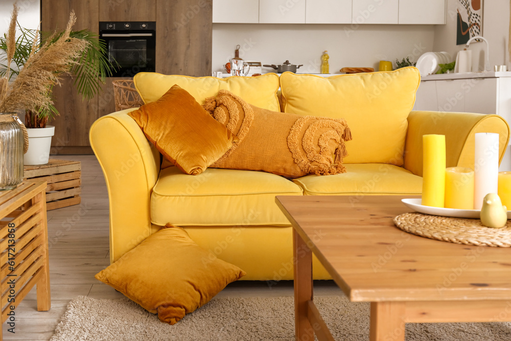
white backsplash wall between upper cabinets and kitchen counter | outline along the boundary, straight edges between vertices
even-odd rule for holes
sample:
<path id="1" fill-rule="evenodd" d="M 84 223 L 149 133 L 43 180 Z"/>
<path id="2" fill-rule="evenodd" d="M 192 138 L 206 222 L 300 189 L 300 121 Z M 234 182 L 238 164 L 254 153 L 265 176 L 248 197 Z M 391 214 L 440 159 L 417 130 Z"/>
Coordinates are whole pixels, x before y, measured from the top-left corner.
<path id="1" fill-rule="evenodd" d="M 330 55 L 330 73 L 341 67 L 375 67 L 380 60 L 395 62 L 409 56 L 416 61 L 432 51 L 433 25 L 291 25 L 213 24 L 213 71 L 234 57 L 262 64 L 304 64 L 298 73 L 319 73 L 324 50 Z M 263 72 L 273 69 L 263 67 Z"/>

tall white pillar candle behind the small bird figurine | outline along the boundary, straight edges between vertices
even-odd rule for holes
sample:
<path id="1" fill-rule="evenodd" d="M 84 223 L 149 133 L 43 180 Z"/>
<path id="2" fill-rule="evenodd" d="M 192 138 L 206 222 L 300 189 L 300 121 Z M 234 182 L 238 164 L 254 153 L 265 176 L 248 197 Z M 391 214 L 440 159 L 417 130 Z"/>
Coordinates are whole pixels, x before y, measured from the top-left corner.
<path id="1" fill-rule="evenodd" d="M 499 134 L 478 132 L 475 134 L 474 210 L 480 210 L 484 196 L 497 193 L 498 188 Z"/>

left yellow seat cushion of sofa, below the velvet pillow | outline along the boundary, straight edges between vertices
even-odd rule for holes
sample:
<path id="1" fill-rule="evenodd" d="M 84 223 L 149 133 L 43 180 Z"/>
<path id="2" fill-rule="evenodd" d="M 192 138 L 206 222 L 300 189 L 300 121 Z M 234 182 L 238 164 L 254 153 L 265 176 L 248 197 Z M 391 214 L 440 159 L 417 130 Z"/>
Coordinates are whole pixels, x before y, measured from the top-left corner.
<path id="1" fill-rule="evenodd" d="M 274 225 L 290 223 L 275 195 L 303 195 L 275 174 L 208 168 L 199 175 L 162 169 L 151 194 L 151 222 L 164 226 Z"/>

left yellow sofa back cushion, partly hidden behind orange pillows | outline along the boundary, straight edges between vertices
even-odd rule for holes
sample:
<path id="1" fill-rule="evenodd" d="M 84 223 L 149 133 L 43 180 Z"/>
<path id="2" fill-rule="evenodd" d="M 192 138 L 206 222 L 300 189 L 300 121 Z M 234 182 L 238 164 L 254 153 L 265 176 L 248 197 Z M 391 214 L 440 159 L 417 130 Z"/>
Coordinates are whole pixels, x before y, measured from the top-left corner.
<path id="1" fill-rule="evenodd" d="M 163 96 L 174 84 L 187 90 L 199 104 L 204 104 L 207 97 L 217 96 L 220 89 L 228 90 L 248 103 L 279 111 L 277 90 L 278 75 L 274 73 L 256 77 L 189 77 L 179 75 L 162 75 L 154 72 L 140 72 L 133 78 L 138 94 L 144 103 L 151 103 Z"/>

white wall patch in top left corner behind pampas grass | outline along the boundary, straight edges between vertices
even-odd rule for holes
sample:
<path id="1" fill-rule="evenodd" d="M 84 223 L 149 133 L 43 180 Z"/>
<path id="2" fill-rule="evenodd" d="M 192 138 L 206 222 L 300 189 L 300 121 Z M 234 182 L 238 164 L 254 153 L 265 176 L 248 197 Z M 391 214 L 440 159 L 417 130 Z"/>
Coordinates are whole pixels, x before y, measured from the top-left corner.
<path id="1" fill-rule="evenodd" d="M 9 28 L 14 0 L 0 0 L 0 35 Z M 21 27 L 37 29 L 41 21 L 40 0 L 18 0 L 18 22 Z"/>

